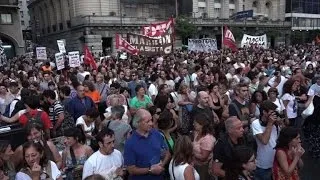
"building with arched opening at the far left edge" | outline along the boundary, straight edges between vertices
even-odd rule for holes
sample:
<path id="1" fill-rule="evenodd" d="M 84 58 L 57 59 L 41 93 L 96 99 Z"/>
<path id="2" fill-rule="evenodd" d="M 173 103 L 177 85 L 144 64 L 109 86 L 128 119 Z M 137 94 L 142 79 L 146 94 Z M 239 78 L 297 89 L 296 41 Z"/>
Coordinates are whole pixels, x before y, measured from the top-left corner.
<path id="1" fill-rule="evenodd" d="M 24 54 L 18 0 L 0 1 L 0 39 L 7 57 Z"/>

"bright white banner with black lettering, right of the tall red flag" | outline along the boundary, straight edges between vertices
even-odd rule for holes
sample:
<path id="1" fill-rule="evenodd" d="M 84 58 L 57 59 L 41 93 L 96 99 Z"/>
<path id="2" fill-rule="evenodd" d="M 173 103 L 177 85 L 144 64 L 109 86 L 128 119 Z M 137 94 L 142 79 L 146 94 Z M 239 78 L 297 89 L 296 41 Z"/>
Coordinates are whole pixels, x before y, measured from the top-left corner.
<path id="1" fill-rule="evenodd" d="M 250 36 L 247 34 L 243 35 L 241 41 L 241 48 L 243 47 L 262 47 L 264 49 L 268 48 L 268 40 L 267 35 L 264 34 L 262 36 Z"/>

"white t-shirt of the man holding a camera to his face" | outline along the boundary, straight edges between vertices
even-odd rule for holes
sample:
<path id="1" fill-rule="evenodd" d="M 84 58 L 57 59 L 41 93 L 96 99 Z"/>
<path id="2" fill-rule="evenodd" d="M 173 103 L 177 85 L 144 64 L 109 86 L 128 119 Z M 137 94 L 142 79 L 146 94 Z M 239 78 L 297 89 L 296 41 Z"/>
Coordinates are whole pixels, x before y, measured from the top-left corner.
<path id="1" fill-rule="evenodd" d="M 278 132 L 280 132 L 280 129 L 277 131 L 277 127 L 275 125 L 272 126 L 272 131 L 270 135 L 270 139 L 268 144 L 264 145 L 260 140 L 256 137 L 257 134 L 262 134 L 266 127 L 262 126 L 260 124 L 260 120 L 256 119 L 251 124 L 252 133 L 255 136 L 258 150 L 257 150 L 257 167 L 262 169 L 269 169 L 273 166 L 273 159 L 276 153 L 276 150 L 274 147 L 277 144 L 278 139 Z"/>

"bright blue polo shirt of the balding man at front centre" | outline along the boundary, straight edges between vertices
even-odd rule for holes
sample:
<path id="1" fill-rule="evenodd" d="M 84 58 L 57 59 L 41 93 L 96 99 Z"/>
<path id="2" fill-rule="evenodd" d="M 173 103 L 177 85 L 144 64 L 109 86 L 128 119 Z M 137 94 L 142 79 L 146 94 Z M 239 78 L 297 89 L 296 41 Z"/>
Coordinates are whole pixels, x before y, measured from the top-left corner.
<path id="1" fill-rule="evenodd" d="M 162 155 L 168 150 L 160 132 L 152 129 L 148 137 L 141 136 L 136 131 L 127 140 L 124 147 L 125 166 L 135 165 L 138 168 L 149 168 L 158 164 Z M 161 180 L 163 176 L 145 174 L 139 176 L 130 176 L 130 180 Z"/>

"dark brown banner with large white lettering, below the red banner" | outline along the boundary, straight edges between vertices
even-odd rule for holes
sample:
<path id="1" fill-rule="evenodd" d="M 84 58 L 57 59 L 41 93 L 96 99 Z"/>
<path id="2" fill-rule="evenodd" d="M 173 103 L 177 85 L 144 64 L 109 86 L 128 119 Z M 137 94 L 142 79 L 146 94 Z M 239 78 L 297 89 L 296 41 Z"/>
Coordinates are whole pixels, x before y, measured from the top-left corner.
<path id="1" fill-rule="evenodd" d="M 142 55 L 163 55 L 173 52 L 172 34 L 168 32 L 156 38 L 128 33 L 127 38 L 129 44 L 138 49 Z"/>

